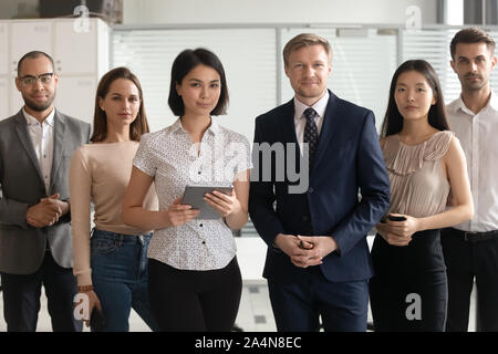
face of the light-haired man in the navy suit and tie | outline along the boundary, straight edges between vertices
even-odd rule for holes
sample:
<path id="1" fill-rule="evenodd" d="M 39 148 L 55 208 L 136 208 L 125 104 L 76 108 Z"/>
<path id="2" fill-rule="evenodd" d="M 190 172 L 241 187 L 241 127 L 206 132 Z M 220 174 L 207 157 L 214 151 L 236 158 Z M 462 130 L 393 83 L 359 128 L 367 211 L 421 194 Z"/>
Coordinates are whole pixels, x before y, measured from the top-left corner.
<path id="1" fill-rule="evenodd" d="M 294 90 L 295 97 L 309 106 L 325 94 L 331 72 L 330 58 L 323 45 L 320 44 L 302 46 L 292 51 L 286 65 L 286 74 Z"/>

